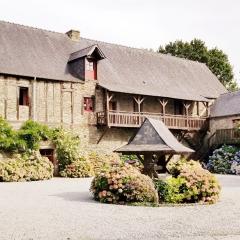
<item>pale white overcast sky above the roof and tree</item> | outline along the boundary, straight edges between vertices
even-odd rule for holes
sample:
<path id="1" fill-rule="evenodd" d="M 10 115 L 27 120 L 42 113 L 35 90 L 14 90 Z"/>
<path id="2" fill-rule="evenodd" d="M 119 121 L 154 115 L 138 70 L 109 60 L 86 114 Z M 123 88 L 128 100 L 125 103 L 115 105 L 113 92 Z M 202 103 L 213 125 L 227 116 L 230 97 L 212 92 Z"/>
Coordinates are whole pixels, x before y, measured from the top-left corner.
<path id="1" fill-rule="evenodd" d="M 0 18 L 154 50 L 200 38 L 229 55 L 240 82 L 239 0 L 0 0 Z"/>

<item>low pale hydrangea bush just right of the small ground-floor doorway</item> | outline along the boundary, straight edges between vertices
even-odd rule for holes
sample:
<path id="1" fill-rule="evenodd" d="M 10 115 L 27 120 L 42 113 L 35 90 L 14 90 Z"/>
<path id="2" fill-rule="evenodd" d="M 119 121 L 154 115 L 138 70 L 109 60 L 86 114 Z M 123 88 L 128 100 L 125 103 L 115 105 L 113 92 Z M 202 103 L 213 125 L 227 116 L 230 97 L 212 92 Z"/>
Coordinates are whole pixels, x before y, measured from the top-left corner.
<path id="1" fill-rule="evenodd" d="M 70 178 L 91 177 L 94 175 L 92 165 L 84 157 L 79 158 L 73 163 L 66 165 L 61 171 L 60 176 Z"/>

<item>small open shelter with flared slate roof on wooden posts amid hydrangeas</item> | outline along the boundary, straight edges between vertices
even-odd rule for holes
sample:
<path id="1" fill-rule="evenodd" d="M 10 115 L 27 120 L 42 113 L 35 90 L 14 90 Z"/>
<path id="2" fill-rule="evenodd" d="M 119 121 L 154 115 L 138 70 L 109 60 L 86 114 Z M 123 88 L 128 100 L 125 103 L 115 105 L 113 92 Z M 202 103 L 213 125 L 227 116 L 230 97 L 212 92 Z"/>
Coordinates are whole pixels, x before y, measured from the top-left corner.
<path id="1" fill-rule="evenodd" d="M 136 154 L 144 163 L 144 174 L 157 177 L 155 164 L 160 165 L 162 171 L 166 172 L 166 165 L 174 154 L 188 154 L 194 151 L 180 143 L 162 121 L 146 118 L 128 144 L 115 152 Z"/>

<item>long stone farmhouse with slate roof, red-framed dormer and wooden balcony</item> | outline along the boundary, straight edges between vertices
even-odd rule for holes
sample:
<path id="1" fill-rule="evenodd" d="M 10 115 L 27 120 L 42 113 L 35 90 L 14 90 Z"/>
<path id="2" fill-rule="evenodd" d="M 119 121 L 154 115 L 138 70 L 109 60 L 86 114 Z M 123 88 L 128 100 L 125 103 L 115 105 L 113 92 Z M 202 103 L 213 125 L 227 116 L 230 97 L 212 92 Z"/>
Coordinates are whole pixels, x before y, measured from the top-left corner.
<path id="1" fill-rule="evenodd" d="M 226 92 L 202 63 L 0 22 L 0 115 L 16 128 L 61 125 L 113 150 L 147 116 L 187 141 L 206 133 L 210 105 Z"/>

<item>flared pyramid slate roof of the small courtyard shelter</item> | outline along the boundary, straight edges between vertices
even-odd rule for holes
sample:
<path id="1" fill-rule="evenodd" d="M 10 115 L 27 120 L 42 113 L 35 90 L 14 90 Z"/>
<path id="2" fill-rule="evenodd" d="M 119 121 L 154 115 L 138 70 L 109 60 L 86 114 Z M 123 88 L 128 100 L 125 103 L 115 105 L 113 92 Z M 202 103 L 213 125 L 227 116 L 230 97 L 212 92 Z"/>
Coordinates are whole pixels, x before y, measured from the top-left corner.
<path id="1" fill-rule="evenodd" d="M 164 153 L 191 153 L 192 149 L 182 145 L 160 121 L 146 118 L 136 135 L 123 147 L 115 150 L 121 153 L 164 152 Z"/>

